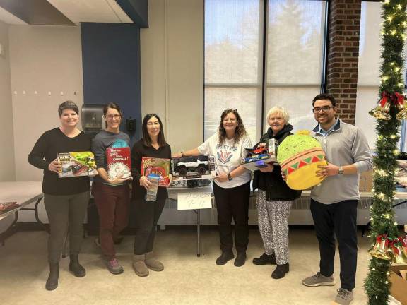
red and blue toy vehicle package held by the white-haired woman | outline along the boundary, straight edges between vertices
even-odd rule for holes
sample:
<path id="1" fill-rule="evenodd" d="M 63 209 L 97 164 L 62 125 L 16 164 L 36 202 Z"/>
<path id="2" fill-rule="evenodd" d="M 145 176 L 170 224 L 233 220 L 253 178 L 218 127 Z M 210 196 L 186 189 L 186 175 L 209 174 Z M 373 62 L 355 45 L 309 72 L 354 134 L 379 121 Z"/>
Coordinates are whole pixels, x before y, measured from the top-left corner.
<path id="1" fill-rule="evenodd" d="M 270 139 L 269 145 L 266 146 L 244 148 L 244 159 L 241 160 L 240 164 L 251 171 L 266 167 L 266 163 L 276 162 L 275 150 L 276 143 L 274 142 L 274 139 Z"/>

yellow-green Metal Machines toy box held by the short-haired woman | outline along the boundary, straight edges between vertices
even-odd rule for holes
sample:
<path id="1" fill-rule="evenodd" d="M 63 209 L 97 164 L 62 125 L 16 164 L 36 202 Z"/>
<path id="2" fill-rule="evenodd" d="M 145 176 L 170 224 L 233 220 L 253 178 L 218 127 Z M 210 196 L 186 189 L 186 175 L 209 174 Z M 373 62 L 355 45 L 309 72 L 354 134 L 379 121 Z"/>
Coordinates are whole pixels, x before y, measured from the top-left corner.
<path id="1" fill-rule="evenodd" d="M 61 162 L 61 169 L 58 177 L 80 177 L 95 176 L 95 157 L 92 152 L 63 152 L 58 154 L 58 161 Z"/>

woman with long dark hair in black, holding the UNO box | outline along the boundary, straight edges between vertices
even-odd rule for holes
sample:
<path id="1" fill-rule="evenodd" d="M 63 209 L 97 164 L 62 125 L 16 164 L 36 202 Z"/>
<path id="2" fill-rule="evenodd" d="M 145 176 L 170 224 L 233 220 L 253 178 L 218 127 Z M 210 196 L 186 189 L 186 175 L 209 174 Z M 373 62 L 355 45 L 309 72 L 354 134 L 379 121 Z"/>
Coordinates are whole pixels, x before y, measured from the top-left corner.
<path id="1" fill-rule="evenodd" d="M 142 157 L 171 159 L 171 148 L 165 142 L 163 123 L 157 114 L 147 114 L 143 119 L 143 138 L 131 149 L 131 174 L 133 200 L 136 205 L 136 237 L 134 238 L 133 268 L 136 275 L 145 277 L 148 269 L 164 270 L 164 265 L 153 256 L 155 227 L 168 197 L 165 187 L 158 187 L 157 199 L 146 201 L 146 191 L 152 187 L 146 176 L 141 175 Z"/>

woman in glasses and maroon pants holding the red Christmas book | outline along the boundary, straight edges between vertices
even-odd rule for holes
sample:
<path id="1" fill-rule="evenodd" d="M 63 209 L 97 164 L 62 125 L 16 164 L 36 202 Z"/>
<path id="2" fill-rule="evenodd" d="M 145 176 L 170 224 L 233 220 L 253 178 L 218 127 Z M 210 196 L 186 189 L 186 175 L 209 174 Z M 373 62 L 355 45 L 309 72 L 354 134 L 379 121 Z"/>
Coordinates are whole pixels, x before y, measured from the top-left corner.
<path id="1" fill-rule="evenodd" d="M 93 138 L 92 151 L 99 176 L 93 179 L 92 195 L 98 207 L 100 232 L 96 244 L 100 245 L 107 269 L 117 275 L 123 267 L 116 258 L 114 244 L 121 241 L 120 232 L 129 222 L 129 178 L 123 176 L 111 179 L 107 174 L 107 148 L 126 148 L 129 136 L 120 131 L 122 111 L 117 104 L 110 103 L 103 108 L 106 129 Z"/>

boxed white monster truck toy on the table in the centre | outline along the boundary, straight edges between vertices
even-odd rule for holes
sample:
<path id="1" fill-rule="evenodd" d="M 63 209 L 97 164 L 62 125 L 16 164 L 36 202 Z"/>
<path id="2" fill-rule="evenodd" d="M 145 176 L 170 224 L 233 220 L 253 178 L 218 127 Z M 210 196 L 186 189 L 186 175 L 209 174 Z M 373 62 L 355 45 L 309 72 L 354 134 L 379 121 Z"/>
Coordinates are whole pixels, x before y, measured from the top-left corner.
<path id="1" fill-rule="evenodd" d="M 216 177 L 215 157 L 200 155 L 195 157 L 173 158 L 172 180 L 213 179 Z"/>

